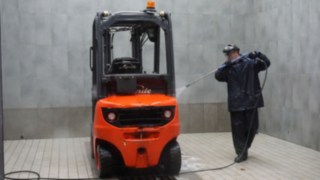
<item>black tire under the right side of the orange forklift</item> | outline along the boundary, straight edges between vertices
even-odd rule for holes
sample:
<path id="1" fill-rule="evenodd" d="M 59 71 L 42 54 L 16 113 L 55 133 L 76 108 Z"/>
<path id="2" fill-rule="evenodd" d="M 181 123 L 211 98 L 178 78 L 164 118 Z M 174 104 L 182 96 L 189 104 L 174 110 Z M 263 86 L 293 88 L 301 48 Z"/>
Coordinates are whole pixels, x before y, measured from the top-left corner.
<path id="1" fill-rule="evenodd" d="M 181 150 L 177 141 L 170 142 L 161 157 L 164 171 L 170 175 L 178 175 L 181 169 Z"/>

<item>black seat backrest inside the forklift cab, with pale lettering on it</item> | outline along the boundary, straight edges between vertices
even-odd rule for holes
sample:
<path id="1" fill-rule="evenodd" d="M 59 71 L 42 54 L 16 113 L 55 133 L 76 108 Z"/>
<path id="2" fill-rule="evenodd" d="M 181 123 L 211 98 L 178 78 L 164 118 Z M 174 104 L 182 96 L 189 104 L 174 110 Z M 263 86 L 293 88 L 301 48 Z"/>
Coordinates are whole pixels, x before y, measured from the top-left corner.
<path id="1" fill-rule="evenodd" d="M 142 67 L 138 59 L 132 57 L 116 58 L 112 61 L 111 74 L 141 74 Z"/>

